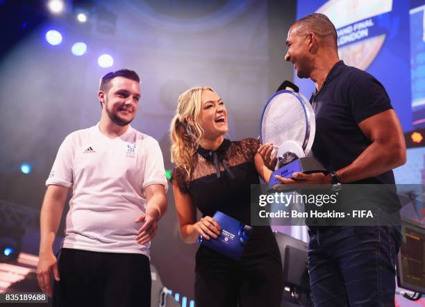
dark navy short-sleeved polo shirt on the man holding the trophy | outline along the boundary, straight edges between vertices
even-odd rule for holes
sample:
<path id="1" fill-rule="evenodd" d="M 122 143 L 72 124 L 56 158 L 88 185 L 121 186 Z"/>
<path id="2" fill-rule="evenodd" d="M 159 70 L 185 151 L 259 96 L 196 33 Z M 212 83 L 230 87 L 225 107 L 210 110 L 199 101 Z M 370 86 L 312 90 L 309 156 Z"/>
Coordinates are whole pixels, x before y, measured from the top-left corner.
<path id="1" fill-rule="evenodd" d="M 351 164 L 372 142 L 358 124 L 392 109 L 390 97 L 374 76 L 336 63 L 322 88 L 310 98 L 316 117 L 313 155 L 329 171 Z M 394 183 L 391 171 L 357 183 Z"/>

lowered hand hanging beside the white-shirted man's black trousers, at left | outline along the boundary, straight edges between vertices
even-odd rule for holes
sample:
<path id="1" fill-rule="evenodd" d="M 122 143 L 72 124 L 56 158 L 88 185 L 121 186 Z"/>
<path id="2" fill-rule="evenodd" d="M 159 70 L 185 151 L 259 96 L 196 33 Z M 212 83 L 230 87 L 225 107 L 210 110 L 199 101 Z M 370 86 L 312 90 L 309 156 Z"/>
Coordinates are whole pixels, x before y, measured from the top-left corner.
<path id="1" fill-rule="evenodd" d="M 47 255 L 40 255 L 37 266 L 37 280 L 38 285 L 42 292 L 47 292 L 49 297 L 53 296 L 53 290 L 51 287 L 50 274 L 53 271 L 53 277 L 56 281 L 59 281 L 59 269 L 58 260 L 56 259 L 53 252 Z"/>

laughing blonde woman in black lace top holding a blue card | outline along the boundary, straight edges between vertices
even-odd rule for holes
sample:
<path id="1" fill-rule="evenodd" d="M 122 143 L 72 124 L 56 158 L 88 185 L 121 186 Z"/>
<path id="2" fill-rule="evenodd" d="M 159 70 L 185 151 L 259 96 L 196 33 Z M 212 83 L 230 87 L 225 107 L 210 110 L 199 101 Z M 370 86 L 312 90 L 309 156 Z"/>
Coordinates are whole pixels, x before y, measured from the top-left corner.
<path id="1" fill-rule="evenodd" d="M 250 185 L 259 183 L 258 174 L 269 176 L 257 153 L 259 142 L 231 142 L 224 138 L 227 131 L 227 110 L 213 88 L 191 88 L 178 97 L 170 133 L 174 199 L 184 242 L 197 242 L 199 235 L 217 238 L 221 229 L 212 217 L 217 210 L 250 224 Z M 254 227 L 238 261 L 201 245 L 195 272 L 198 307 L 281 303 L 281 256 L 269 227 Z"/>

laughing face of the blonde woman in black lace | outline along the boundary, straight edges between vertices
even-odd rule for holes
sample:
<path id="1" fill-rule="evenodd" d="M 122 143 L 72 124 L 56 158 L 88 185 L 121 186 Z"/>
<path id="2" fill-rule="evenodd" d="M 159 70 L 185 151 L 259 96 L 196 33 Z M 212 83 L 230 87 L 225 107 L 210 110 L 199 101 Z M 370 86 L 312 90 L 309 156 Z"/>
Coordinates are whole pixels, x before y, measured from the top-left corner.
<path id="1" fill-rule="evenodd" d="M 201 110 L 197 122 L 203 128 L 203 138 L 208 140 L 215 140 L 227 133 L 227 110 L 215 92 L 202 90 Z"/>

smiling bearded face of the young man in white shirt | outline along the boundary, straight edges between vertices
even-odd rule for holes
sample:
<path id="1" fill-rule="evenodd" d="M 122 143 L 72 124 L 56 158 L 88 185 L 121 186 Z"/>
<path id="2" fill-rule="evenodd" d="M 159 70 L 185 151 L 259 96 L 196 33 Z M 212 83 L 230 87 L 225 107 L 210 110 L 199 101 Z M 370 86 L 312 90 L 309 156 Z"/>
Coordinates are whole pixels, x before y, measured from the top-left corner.
<path id="1" fill-rule="evenodd" d="M 140 100 L 140 85 L 122 76 L 113 78 L 107 92 L 100 91 L 99 99 L 104 103 L 109 119 L 119 126 L 126 126 L 134 119 Z"/>

